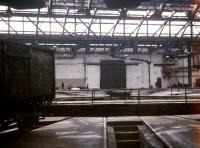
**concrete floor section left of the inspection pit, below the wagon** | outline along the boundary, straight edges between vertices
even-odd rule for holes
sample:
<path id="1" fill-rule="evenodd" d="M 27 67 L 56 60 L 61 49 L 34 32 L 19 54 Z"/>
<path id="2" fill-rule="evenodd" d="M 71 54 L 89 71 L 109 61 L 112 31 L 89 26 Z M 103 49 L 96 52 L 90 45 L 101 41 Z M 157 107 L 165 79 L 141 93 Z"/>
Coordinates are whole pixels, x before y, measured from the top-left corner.
<path id="1" fill-rule="evenodd" d="M 1 148 L 103 148 L 104 118 L 70 118 L 28 134 L 0 133 Z"/>

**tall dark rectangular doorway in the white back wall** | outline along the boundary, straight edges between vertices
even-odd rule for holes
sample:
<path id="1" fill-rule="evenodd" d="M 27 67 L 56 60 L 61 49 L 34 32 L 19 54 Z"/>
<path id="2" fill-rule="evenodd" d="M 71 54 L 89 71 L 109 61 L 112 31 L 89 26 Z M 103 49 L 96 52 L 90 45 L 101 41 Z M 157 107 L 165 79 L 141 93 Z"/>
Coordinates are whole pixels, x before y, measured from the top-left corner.
<path id="1" fill-rule="evenodd" d="M 102 60 L 101 79 L 102 89 L 126 88 L 126 65 L 123 60 Z"/>

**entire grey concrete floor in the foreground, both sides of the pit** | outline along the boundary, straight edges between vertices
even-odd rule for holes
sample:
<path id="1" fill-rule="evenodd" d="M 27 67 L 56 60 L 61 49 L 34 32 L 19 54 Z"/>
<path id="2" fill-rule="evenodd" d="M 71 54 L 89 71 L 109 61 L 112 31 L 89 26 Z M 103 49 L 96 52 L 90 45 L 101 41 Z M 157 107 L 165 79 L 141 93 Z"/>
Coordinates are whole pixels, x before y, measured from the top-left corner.
<path id="1" fill-rule="evenodd" d="M 200 115 L 46 118 L 55 123 L 20 134 L 0 133 L 1 148 L 105 148 L 106 121 L 143 120 L 168 145 L 175 148 L 200 147 Z M 59 122 L 56 122 L 59 121 Z"/>

